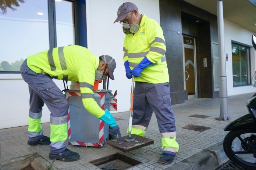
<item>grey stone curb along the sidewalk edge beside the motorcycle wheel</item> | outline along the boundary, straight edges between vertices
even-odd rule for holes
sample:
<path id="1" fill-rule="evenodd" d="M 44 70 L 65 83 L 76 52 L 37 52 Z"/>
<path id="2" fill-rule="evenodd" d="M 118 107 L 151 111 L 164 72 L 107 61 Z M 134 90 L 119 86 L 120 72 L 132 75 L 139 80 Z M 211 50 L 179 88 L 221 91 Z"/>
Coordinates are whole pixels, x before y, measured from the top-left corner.
<path id="1" fill-rule="evenodd" d="M 223 150 L 223 142 L 219 142 L 164 170 L 215 170 L 227 161 L 228 157 Z"/>

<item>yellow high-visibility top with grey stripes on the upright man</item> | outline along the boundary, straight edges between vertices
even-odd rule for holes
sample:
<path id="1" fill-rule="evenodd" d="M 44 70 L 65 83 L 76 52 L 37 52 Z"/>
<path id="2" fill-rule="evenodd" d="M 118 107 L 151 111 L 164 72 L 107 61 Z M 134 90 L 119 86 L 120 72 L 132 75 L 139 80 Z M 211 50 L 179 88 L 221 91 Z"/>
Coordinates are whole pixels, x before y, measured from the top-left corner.
<path id="1" fill-rule="evenodd" d="M 129 61 L 130 68 L 135 68 L 146 56 L 153 65 L 145 68 L 136 82 L 166 83 L 169 82 L 166 63 L 166 43 L 160 25 L 151 18 L 142 15 L 140 28 L 124 39 L 124 62 Z"/>

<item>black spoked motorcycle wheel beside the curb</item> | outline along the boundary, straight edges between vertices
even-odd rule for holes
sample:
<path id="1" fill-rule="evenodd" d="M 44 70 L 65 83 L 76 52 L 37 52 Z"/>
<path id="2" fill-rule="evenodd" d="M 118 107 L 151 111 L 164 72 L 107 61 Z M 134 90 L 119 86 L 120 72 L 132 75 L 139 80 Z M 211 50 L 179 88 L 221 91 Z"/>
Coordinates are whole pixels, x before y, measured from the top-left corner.
<path id="1" fill-rule="evenodd" d="M 256 130 L 230 131 L 223 141 L 224 152 L 237 165 L 256 169 Z"/>

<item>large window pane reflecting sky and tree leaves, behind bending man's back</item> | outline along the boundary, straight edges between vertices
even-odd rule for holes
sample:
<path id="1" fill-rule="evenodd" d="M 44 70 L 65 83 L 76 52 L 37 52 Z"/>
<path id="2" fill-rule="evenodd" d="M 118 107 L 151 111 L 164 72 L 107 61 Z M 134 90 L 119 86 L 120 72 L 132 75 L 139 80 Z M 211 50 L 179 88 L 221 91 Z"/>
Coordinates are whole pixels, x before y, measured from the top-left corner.
<path id="1" fill-rule="evenodd" d="M 48 4 L 47 0 L 2 3 L 11 8 L 1 4 L 0 73 L 19 71 L 28 55 L 49 49 Z"/>

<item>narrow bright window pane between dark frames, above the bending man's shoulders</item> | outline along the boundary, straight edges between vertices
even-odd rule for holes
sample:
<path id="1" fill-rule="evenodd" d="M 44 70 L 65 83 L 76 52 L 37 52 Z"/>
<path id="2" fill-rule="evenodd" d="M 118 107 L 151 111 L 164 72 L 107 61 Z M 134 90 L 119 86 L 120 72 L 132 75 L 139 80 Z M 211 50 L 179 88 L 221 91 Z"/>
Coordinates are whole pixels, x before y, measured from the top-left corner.
<path id="1" fill-rule="evenodd" d="M 57 46 L 75 44 L 74 2 L 55 1 Z"/>

